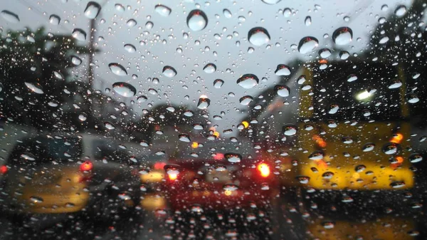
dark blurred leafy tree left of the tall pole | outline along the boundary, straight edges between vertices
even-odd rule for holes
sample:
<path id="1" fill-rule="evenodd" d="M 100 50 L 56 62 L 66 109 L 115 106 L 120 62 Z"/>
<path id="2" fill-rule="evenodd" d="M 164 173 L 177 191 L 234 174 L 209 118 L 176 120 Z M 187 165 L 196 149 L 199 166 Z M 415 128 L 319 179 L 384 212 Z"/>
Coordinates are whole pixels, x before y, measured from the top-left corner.
<path id="1" fill-rule="evenodd" d="M 70 82 L 71 54 L 85 54 L 72 36 L 46 34 L 43 28 L 9 31 L 0 38 L 1 117 L 52 129 L 70 125 L 62 104 L 77 90 Z"/>

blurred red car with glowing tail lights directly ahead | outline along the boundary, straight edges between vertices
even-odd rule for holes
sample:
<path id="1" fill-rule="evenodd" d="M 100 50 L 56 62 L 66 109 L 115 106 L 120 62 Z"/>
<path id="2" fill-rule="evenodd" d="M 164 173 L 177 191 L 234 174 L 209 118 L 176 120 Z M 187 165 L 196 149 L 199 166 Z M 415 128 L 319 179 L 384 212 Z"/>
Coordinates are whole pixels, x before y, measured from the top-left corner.
<path id="1" fill-rule="evenodd" d="M 182 230 L 176 234 L 202 238 L 221 226 L 218 236 L 268 239 L 278 179 L 273 165 L 257 159 L 252 149 L 193 142 L 177 148 L 164 171 L 164 192 L 176 214 L 176 229 Z"/>

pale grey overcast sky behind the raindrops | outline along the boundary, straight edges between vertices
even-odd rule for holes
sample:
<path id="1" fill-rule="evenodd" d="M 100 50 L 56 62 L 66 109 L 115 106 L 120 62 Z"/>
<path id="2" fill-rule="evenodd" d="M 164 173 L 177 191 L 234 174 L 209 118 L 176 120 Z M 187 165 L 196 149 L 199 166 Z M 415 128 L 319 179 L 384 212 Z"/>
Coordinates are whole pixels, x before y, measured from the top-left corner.
<path id="1" fill-rule="evenodd" d="M 271 1 L 271 0 L 270 0 Z M 241 116 L 235 108 L 245 109 L 239 104 L 243 95 L 258 97 L 261 90 L 274 85 L 278 80 L 274 71 L 278 64 L 286 64 L 295 58 L 309 58 L 302 55 L 292 44 L 298 44 L 305 36 L 314 36 L 320 42 L 312 53 L 317 57 L 320 48 L 332 46 L 332 33 L 336 28 L 348 26 L 353 31 L 353 41 L 342 46 L 350 53 L 359 53 L 367 47 L 369 31 L 374 30 L 381 16 L 394 13 L 396 6 L 410 6 L 411 1 L 279 1 L 278 4 L 265 4 L 260 0 L 253 1 L 118 1 L 97 0 L 102 6 L 96 21 L 96 39 L 100 52 L 95 57 L 95 88 L 105 90 L 112 83 L 127 82 L 135 86 L 149 100 L 140 104 L 135 110 L 140 112 L 147 108 L 147 103 L 174 103 L 196 106 L 200 95 L 211 99 L 209 113 L 219 115 L 226 112 L 223 120 L 214 120 L 221 129 L 236 125 Z M 19 15 L 19 23 L 11 23 L 0 18 L 0 26 L 6 29 L 21 30 L 24 26 L 36 29 L 45 26 L 51 33 L 71 34 L 74 28 L 82 28 L 89 36 L 90 20 L 83 15 L 88 1 L 86 0 L 4 0 L 0 2 L 0 11 L 8 10 Z M 122 4 L 125 11 L 119 11 L 116 4 Z M 161 16 L 154 11 L 156 4 L 163 4 L 172 9 L 169 16 Z M 386 11 L 381 6 L 387 4 Z M 315 6 L 317 5 L 317 6 Z M 292 9 L 292 16 L 283 16 L 283 9 Z M 208 24 L 202 31 L 191 31 L 186 24 L 186 17 L 193 9 L 204 11 Z M 226 18 L 223 9 L 228 9 L 232 16 Z M 49 24 L 51 14 L 60 16 L 58 26 Z M 310 16 L 312 24 L 306 26 L 305 19 Z M 349 17 L 349 21 L 344 20 Z M 243 21 L 243 18 L 245 21 Z M 127 21 L 135 19 L 136 26 L 127 26 Z M 147 28 L 147 21 L 153 26 Z M 263 46 L 254 46 L 248 42 L 248 31 L 254 27 L 263 27 L 270 34 L 270 41 Z M 183 34 L 188 33 L 189 38 Z M 218 34 L 220 38 L 215 37 Z M 325 34 L 329 35 L 324 38 Z M 230 39 L 228 39 L 230 38 Z M 141 45 L 143 41 L 145 45 Z M 199 45 L 196 44 L 199 41 Z M 236 46 L 236 42 L 240 46 Z M 81 41 L 80 44 L 88 44 Z M 125 51 L 124 45 L 132 44 L 137 48 L 135 53 Z M 270 46 L 270 47 L 268 47 Z M 248 48 L 255 51 L 248 53 Z M 182 52 L 176 51 L 181 48 Z M 84 56 L 81 56 L 82 58 Z M 335 57 L 335 56 L 334 56 Z M 118 76 L 110 72 L 109 63 L 120 63 L 127 68 L 128 75 Z M 216 65 L 215 73 L 205 73 L 207 63 Z M 82 66 L 75 69 L 78 75 L 85 75 L 87 58 Z M 172 66 L 177 74 L 173 78 L 162 75 L 164 66 Z M 229 69 L 229 71 L 227 71 Z M 243 74 L 253 73 L 260 79 L 260 84 L 251 89 L 241 88 L 236 80 Z M 132 75 L 137 78 L 132 78 Z M 261 81 L 262 78 L 265 81 Z M 154 84 L 148 78 L 159 78 Z M 220 89 L 213 86 L 214 80 L 224 80 Z M 186 86 L 186 87 L 184 87 Z M 147 92 L 149 88 L 158 90 L 158 95 Z M 235 97 L 228 93 L 235 93 Z M 114 92 L 106 93 L 114 95 Z M 186 100 L 184 96 L 188 95 Z M 118 98 L 118 95 L 115 95 Z"/>

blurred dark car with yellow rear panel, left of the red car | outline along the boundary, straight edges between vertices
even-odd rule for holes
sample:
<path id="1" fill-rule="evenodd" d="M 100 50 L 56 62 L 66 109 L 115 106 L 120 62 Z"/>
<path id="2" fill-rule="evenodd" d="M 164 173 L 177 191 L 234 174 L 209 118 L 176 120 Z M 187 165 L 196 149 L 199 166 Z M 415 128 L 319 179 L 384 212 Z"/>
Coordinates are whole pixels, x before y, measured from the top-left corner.
<path id="1" fill-rule="evenodd" d="M 129 156 L 99 135 L 51 134 L 16 143 L 0 169 L 0 207 L 29 223 L 78 213 L 100 219 L 132 213 L 140 179 Z"/>

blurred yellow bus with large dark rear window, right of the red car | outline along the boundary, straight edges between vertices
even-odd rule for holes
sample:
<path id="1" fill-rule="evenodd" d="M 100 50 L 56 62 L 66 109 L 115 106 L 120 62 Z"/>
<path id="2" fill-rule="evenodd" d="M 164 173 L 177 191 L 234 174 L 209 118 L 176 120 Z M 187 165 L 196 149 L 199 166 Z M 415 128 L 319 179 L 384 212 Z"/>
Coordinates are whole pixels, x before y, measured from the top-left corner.
<path id="1" fill-rule="evenodd" d="M 326 68 L 325 68 L 326 67 Z M 322 69 L 325 68 L 325 69 Z M 408 189 L 410 125 L 399 66 L 323 62 L 303 67 L 295 133 L 297 180 L 314 189 Z M 296 128 L 296 129 L 294 129 Z M 288 134 L 287 134 L 288 133 Z"/>

